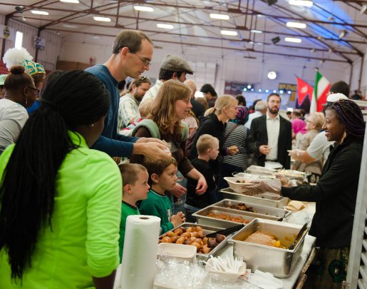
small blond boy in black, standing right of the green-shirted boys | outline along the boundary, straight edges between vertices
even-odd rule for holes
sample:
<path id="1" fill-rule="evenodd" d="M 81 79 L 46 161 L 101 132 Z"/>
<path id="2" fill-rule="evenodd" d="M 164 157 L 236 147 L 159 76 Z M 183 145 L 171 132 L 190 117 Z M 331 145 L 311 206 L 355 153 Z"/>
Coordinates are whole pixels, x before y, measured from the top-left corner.
<path id="1" fill-rule="evenodd" d="M 207 191 L 203 194 L 197 194 L 195 188 L 197 181 L 192 178 L 187 178 L 187 196 L 185 203 L 185 215 L 188 222 L 195 223 L 195 217 L 192 214 L 199 211 L 200 208 L 205 208 L 211 205 L 212 194 L 215 193 L 216 185 L 214 181 L 214 172 L 209 165 L 209 160 L 215 160 L 219 154 L 219 140 L 210 136 L 210 134 L 203 134 L 197 140 L 197 158 L 194 158 L 191 163 L 197 171 L 200 171 L 207 181 Z"/>

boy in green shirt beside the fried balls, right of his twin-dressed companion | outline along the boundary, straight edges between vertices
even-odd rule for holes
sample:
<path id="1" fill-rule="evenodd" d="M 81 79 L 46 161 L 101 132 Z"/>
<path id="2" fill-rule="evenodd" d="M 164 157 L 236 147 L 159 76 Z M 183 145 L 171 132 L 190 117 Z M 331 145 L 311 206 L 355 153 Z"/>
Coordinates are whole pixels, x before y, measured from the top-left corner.
<path id="1" fill-rule="evenodd" d="M 160 217 L 160 233 L 177 227 L 185 222 L 185 215 L 178 212 L 172 215 L 172 203 L 165 191 L 170 191 L 177 182 L 177 161 L 175 158 L 165 160 L 152 160 L 144 158 L 144 166 L 150 176 L 150 191 L 148 198 L 140 204 L 139 210 L 143 215 Z"/>

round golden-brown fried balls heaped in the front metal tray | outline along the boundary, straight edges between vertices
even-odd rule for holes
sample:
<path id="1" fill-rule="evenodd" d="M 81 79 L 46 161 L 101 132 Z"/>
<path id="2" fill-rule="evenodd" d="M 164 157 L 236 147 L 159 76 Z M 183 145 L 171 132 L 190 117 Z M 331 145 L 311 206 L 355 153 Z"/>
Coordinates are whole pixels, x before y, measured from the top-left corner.
<path id="1" fill-rule="evenodd" d="M 225 238 L 226 236 L 221 234 L 217 234 L 216 238 L 207 238 L 202 228 L 197 225 L 195 227 L 179 227 L 173 231 L 170 230 L 160 236 L 159 243 L 192 245 L 196 247 L 197 253 L 207 254 L 217 247 L 219 243 L 222 243 Z"/>

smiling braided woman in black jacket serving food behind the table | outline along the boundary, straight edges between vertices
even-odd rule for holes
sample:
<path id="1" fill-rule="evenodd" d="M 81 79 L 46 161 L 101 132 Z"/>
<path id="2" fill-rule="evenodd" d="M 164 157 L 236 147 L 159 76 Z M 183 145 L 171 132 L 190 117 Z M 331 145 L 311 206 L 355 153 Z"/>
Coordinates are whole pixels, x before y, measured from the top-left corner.
<path id="1" fill-rule="evenodd" d="M 314 288 L 341 288 L 346 278 L 366 124 L 349 100 L 326 108 L 323 129 L 335 141 L 316 186 L 281 187 L 281 195 L 316 202 L 310 235 L 316 237 L 319 263 Z M 334 287 L 333 287 L 334 286 Z"/>

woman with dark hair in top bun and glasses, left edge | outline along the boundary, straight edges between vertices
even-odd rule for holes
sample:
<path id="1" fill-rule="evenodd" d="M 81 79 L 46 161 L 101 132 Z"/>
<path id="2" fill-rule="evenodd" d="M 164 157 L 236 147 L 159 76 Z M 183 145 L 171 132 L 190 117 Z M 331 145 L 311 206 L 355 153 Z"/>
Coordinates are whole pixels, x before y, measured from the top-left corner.
<path id="1" fill-rule="evenodd" d="M 0 99 L 0 153 L 18 138 L 28 119 L 26 108 L 33 105 L 38 93 L 24 66 L 12 66 L 4 82 L 4 98 Z"/>

